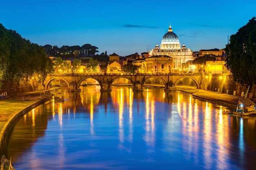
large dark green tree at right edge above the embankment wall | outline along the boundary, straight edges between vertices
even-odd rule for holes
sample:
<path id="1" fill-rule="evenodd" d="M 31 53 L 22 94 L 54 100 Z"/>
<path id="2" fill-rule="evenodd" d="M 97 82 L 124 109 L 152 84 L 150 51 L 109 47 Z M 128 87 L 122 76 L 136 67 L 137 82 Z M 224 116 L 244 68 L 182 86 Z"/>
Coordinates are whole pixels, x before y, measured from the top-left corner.
<path id="1" fill-rule="evenodd" d="M 226 64 L 234 81 L 244 85 L 256 83 L 256 17 L 230 36 L 226 45 Z"/>

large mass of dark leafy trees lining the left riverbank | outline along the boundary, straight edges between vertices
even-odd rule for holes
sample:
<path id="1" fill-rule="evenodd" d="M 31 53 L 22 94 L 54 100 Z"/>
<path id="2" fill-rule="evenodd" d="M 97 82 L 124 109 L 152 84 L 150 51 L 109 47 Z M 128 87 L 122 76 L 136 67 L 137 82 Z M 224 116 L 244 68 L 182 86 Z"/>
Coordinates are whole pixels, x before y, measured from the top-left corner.
<path id="1" fill-rule="evenodd" d="M 0 85 L 6 80 L 20 82 L 40 75 L 43 82 L 52 72 L 45 49 L 0 24 Z"/>

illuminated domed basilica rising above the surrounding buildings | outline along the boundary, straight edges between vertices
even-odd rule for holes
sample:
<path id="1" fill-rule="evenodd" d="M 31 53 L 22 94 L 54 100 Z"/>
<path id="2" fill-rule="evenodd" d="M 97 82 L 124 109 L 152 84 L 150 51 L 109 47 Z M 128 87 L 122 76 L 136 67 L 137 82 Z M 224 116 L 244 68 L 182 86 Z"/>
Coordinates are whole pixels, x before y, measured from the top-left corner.
<path id="1" fill-rule="evenodd" d="M 155 56 L 168 56 L 172 58 L 171 70 L 180 70 L 182 63 L 193 60 L 193 52 L 189 48 L 186 48 L 185 44 L 180 46 L 180 40 L 178 36 L 173 33 L 171 24 L 168 28 L 168 32 L 163 36 L 160 47 L 158 44 L 154 49 L 148 52 L 148 58 Z M 161 66 L 162 67 L 162 66 Z M 169 68 L 166 68 L 168 70 Z M 153 70 L 162 70 L 157 68 Z"/>

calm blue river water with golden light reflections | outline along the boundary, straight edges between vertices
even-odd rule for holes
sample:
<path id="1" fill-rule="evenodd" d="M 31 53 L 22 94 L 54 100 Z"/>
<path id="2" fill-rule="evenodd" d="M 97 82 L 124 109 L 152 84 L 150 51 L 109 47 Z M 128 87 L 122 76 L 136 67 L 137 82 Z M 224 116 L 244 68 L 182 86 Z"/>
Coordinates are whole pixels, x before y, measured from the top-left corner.
<path id="1" fill-rule="evenodd" d="M 256 168 L 255 117 L 160 88 L 81 89 L 59 89 L 64 102 L 48 101 L 16 123 L 3 147 L 16 170 Z"/>

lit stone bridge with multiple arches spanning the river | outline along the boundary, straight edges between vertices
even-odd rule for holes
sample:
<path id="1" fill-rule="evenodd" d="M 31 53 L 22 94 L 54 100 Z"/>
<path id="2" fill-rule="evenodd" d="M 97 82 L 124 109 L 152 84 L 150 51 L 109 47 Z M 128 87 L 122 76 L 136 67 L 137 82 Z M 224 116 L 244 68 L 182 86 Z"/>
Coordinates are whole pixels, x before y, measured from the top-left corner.
<path id="1" fill-rule="evenodd" d="M 175 89 L 177 83 L 183 78 L 190 78 L 193 80 L 198 89 L 206 89 L 204 83 L 204 73 L 188 73 L 188 74 L 175 74 L 175 73 L 155 73 L 155 74 L 84 74 L 84 73 L 64 73 L 64 74 L 47 74 L 45 79 L 44 88 L 48 89 L 50 83 L 55 79 L 61 79 L 67 83 L 69 91 L 78 91 L 79 86 L 88 78 L 96 80 L 101 86 L 101 91 L 111 91 L 111 85 L 118 78 L 128 79 L 133 86 L 133 91 L 143 91 L 144 83 L 150 78 L 157 78 L 164 83 L 164 90 L 171 91 Z M 171 86 L 170 86 L 171 85 Z"/>

